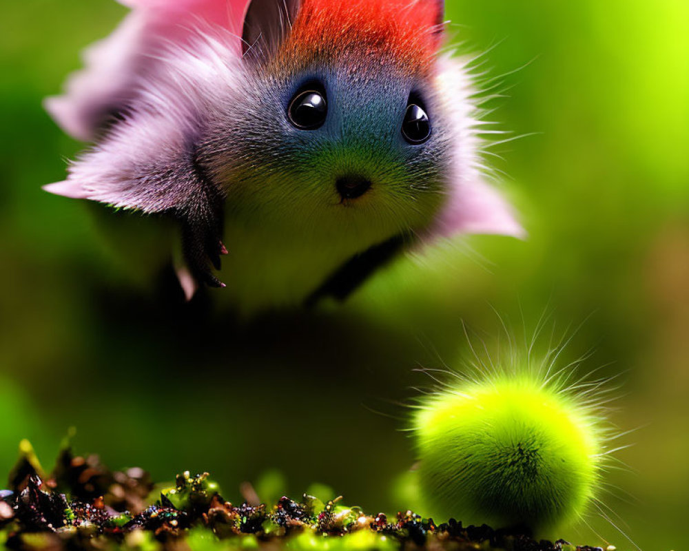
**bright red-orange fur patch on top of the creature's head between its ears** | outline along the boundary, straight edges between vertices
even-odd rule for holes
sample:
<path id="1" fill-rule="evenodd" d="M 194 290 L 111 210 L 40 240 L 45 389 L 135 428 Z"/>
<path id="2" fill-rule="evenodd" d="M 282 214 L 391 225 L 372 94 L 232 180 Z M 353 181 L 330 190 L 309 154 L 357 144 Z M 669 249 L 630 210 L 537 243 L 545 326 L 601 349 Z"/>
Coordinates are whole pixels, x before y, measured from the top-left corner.
<path id="1" fill-rule="evenodd" d="M 442 17 L 442 0 L 303 0 L 284 51 L 330 61 L 384 58 L 427 72 Z"/>

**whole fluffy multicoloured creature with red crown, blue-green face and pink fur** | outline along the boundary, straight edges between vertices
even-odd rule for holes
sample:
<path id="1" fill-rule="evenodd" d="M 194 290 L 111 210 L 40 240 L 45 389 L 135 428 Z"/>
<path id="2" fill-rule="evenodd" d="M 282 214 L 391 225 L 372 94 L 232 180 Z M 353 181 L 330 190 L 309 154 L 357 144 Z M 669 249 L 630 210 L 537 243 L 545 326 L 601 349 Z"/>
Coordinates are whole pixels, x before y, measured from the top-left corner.
<path id="1" fill-rule="evenodd" d="M 46 189 L 176 218 L 187 295 L 225 287 L 221 255 L 254 310 L 345 298 L 420 239 L 521 235 L 482 181 L 441 0 L 121 1 L 46 103 L 95 143 Z"/>

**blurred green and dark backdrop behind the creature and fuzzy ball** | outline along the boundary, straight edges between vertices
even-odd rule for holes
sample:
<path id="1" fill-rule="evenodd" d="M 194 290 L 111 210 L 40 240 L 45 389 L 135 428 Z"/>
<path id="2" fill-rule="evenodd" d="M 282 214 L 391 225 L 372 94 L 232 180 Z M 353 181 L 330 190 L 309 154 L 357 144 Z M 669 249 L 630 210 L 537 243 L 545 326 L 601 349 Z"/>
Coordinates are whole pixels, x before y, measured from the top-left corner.
<path id="1" fill-rule="evenodd" d="M 586 320 L 564 361 L 593 347 L 581 373 L 622 373 L 611 416 L 639 430 L 617 454 L 628 468 L 608 475 L 615 523 L 644 549 L 689 545 L 689 3 L 447 4 L 462 49 L 494 45 L 486 68 L 508 74 L 493 118 L 538 133 L 492 148 L 528 240 L 460 238 L 400 259 L 344 307 L 238 325 L 217 293 L 181 302 L 150 260 L 154 222 L 40 189 L 81 147 L 41 100 L 124 8 L 5 3 L 0 472 L 21 437 L 50 463 L 76 426 L 77 451 L 157 479 L 210 470 L 230 499 L 278 468 L 294 494 L 320 481 L 349 503 L 407 507 L 393 488 L 414 461 L 402 404 L 431 384 L 413 369 L 460 368 L 462 320 L 491 346 L 493 309 L 517 334 L 547 312 L 557 332 Z M 632 548 L 596 514 L 589 523 Z M 591 530 L 562 535 L 601 543 Z"/>

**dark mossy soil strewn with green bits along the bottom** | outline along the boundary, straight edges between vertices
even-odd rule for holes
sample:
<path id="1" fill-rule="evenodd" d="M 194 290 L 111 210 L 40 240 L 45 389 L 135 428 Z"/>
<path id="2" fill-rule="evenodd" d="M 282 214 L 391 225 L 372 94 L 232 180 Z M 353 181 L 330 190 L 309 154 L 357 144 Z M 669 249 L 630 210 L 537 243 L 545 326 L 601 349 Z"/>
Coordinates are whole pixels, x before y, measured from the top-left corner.
<path id="1" fill-rule="evenodd" d="M 411 511 L 367 514 L 302 495 L 273 506 L 225 501 L 208 473 L 160 488 L 139 468 L 111 471 L 65 446 L 44 472 L 28 443 L 0 492 L 0 543 L 22 551 L 594 551 L 528 534 L 435 523 Z"/>

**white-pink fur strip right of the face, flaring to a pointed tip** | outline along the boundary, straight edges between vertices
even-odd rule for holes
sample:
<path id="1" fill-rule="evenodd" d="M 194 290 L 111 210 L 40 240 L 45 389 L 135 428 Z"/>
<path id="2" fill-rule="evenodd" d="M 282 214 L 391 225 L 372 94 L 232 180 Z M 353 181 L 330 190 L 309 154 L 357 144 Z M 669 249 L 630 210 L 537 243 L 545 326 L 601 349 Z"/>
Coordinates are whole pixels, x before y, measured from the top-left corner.
<path id="1" fill-rule="evenodd" d="M 524 228 L 497 189 L 484 181 L 480 158 L 480 121 L 473 103 L 474 90 L 461 60 L 438 61 L 438 87 L 446 102 L 446 117 L 452 141 L 452 165 L 446 205 L 431 233 L 500 233 L 523 238 Z"/>

